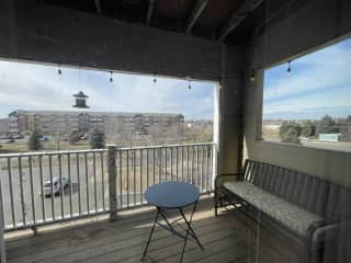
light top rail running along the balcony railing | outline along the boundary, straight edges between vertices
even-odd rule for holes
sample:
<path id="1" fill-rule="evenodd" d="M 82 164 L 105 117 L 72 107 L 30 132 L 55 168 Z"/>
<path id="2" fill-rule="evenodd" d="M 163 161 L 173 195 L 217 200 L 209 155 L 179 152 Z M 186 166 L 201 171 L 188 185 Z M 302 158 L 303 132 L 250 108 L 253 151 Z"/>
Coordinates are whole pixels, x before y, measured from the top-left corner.
<path id="1" fill-rule="evenodd" d="M 143 150 L 143 149 L 191 147 L 191 146 L 212 146 L 212 145 L 215 145 L 215 142 L 122 147 L 122 148 L 117 148 L 117 150 Z M 84 149 L 84 150 L 16 152 L 16 153 L 2 153 L 2 155 L 0 155 L 0 159 L 1 158 L 18 158 L 18 157 L 57 156 L 57 155 L 69 155 L 69 153 L 106 152 L 106 151 L 107 151 L 107 148 L 104 148 L 104 149 Z"/>

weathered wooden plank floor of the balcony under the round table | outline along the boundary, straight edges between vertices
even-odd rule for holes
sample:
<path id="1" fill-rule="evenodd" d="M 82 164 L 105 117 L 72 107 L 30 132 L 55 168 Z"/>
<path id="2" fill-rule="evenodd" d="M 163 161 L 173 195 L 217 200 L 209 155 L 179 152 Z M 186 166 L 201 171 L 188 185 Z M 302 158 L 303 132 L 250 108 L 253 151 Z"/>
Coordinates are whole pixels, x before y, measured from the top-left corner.
<path id="1" fill-rule="evenodd" d="M 7 235 L 8 262 L 140 262 L 155 213 L 152 207 L 143 207 L 121 211 L 113 222 L 107 216 L 100 216 L 43 227 L 36 236 L 31 231 L 21 236 L 10 232 Z M 184 262 L 288 262 L 279 253 L 281 250 L 271 245 L 260 244 L 256 253 L 259 241 L 254 231 L 245 226 L 248 220 L 239 220 L 236 214 L 235 209 L 223 209 L 215 217 L 212 198 L 203 197 L 193 227 L 205 250 L 190 241 Z M 182 239 L 157 227 L 145 262 L 179 262 L 182 244 Z M 264 259 L 260 260 L 262 255 Z"/>

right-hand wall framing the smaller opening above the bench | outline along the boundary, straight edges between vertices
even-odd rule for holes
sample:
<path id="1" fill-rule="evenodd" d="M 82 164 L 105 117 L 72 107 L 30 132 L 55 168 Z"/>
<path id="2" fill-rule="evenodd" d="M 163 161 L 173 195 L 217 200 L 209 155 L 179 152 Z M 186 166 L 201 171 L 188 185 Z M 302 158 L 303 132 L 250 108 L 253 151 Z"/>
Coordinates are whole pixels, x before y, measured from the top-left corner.
<path id="1" fill-rule="evenodd" d="M 247 52 L 247 70 L 262 69 L 314 50 L 351 32 L 351 1 L 310 0 L 257 37 Z M 351 153 L 260 140 L 262 73 L 245 78 L 245 157 L 351 185 Z"/>

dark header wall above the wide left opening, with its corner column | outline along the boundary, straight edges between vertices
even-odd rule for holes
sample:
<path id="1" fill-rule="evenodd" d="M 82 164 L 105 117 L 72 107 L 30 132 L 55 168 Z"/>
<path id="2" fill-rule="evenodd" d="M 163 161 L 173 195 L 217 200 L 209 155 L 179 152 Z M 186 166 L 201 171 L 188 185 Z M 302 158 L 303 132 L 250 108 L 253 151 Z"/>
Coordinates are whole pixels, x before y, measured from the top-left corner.
<path id="1" fill-rule="evenodd" d="M 0 1 L 0 58 L 215 80 L 219 91 L 219 172 L 239 156 L 242 50 L 143 25 L 39 4 Z"/>

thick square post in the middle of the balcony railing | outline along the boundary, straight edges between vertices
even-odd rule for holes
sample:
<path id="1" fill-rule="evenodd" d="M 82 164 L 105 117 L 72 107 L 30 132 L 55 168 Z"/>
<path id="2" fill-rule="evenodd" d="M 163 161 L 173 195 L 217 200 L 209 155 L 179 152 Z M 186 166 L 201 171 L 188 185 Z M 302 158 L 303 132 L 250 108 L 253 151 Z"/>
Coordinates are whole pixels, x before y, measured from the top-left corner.
<path id="1" fill-rule="evenodd" d="M 110 220 L 117 218 L 117 174 L 116 174 L 116 152 L 115 145 L 107 145 L 107 164 L 109 164 L 109 204 L 110 204 Z"/>

